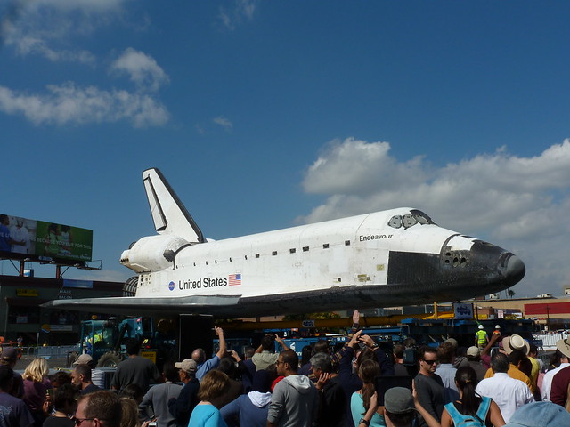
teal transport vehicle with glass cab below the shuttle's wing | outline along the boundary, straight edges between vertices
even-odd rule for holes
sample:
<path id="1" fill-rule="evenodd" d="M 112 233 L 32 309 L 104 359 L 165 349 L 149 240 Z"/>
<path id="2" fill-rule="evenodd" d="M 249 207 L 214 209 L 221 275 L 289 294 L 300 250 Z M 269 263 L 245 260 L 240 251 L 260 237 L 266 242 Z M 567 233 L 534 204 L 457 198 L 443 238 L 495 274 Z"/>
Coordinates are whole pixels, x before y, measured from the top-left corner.
<path id="1" fill-rule="evenodd" d="M 126 359 L 124 342 L 134 338 L 142 342 L 140 355 L 151 359 L 158 367 L 164 360 L 176 359 L 176 334 L 174 321 L 161 318 L 109 318 L 105 320 L 84 320 L 81 322 L 79 351 L 69 358 L 69 366 L 79 354 L 87 353 L 97 367 L 117 367 Z"/>

